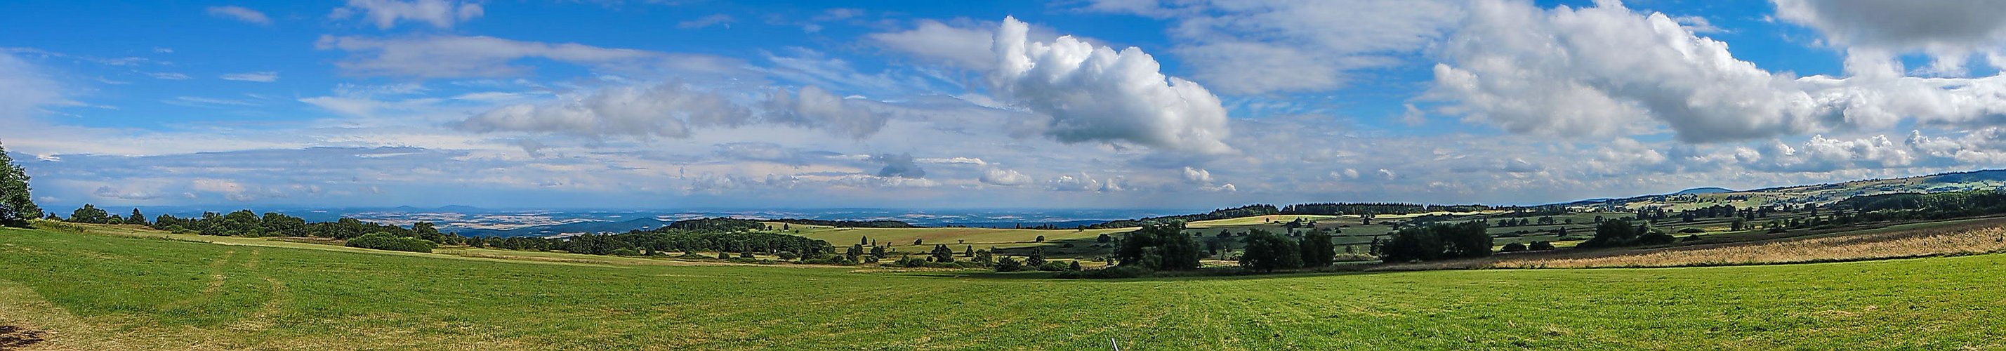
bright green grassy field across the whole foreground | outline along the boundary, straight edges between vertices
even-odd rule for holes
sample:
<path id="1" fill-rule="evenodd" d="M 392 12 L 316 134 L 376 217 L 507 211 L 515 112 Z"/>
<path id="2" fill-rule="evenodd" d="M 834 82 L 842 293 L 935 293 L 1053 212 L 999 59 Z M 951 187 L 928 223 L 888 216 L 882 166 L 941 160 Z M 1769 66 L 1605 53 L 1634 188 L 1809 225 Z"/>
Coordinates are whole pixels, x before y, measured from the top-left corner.
<path id="1" fill-rule="evenodd" d="M 1180 281 L 439 257 L 0 229 L 0 323 L 70 349 L 2006 347 L 2002 255 Z"/>

